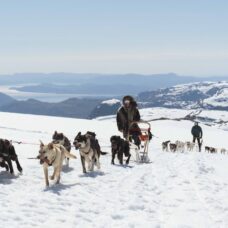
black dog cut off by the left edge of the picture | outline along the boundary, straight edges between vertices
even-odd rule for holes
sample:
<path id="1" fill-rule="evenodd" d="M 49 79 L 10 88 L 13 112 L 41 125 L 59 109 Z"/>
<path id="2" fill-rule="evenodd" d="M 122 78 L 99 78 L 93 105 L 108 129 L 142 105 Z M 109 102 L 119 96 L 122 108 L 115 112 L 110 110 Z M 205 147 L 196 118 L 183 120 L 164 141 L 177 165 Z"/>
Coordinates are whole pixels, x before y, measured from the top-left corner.
<path id="1" fill-rule="evenodd" d="M 18 171 L 22 172 L 15 148 L 9 140 L 0 139 L 0 158 L 0 166 L 4 167 L 7 171 L 10 170 L 11 174 L 14 173 L 12 161 L 16 162 Z"/>

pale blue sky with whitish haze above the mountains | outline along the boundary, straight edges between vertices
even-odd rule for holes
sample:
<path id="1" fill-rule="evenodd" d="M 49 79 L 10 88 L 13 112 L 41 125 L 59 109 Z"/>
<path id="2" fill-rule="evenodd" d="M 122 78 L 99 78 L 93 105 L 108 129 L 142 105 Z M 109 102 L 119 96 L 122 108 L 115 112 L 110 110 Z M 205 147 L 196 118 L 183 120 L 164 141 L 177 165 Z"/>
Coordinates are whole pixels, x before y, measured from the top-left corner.
<path id="1" fill-rule="evenodd" d="M 0 74 L 228 75 L 227 0 L 0 0 Z"/>

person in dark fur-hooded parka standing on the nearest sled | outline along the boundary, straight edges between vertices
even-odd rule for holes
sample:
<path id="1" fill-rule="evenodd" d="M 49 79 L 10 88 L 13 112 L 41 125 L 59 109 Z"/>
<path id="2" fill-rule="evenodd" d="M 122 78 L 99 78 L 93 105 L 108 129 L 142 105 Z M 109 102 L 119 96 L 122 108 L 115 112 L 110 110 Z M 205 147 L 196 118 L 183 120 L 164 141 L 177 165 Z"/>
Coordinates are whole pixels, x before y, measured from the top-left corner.
<path id="1" fill-rule="evenodd" d="M 131 136 L 129 140 L 133 139 L 136 146 L 140 146 L 139 136 L 141 134 L 139 126 L 132 122 L 140 121 L 140 113 L 137 108 L 137 103 L 132 96 L 125 96 L 123 98 L 123 105 L 117 112 L 116 122 L 120 132 L 123 133 L 123 137 L 128 140 L 128 136 Z"/>

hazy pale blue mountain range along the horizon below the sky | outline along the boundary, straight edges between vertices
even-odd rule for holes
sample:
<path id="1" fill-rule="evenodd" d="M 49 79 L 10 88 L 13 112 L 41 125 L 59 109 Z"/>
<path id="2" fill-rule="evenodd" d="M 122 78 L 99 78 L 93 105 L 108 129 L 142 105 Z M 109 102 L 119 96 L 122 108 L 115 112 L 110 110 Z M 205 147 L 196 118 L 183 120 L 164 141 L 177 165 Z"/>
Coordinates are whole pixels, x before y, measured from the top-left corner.
<path id="1" fill-rule="evenodd" d="M 16 90 L 39 93 L 64 93 L 88 95 L 133 94 L 147 90 L 171 87 L 177 84 L 228 80 L 227 77 L 191 77 L 167 74 L 15 74 L 0 76 L 1 85 L 17 86 Z M 23 85 L 18 88 L 18 85 Z"/>

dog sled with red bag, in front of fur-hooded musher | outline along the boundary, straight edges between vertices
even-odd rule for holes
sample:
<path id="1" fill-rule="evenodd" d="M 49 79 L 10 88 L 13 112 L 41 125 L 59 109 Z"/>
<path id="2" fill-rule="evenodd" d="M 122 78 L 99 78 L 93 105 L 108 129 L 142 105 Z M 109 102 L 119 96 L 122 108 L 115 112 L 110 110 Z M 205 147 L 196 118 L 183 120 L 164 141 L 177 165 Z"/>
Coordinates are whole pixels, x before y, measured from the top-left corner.
<path id="1" fill-rule="evenodd" d="M 137 125 L 137 128 L 134 129 L 132 126 Z M 132 122 L 129 126 L 130 132 L 128 132 L 127 140 L 130 144 L 130 150 L 133 152 L 132 155 L 134 157 L 135 162 L 137 163 L 149 163 L 150 159 L 148 156 L 149 152 L 149 143 L 150 143 L 150 137 L 151 137 L 151 125 L 147 121 L 138 121 L 138 122 Z M 140 139 L 140 146 L 137 146 L 132 142 L 131 134 L 132 132 L 137 131 L 139 133 L 139 139 Z"/>

